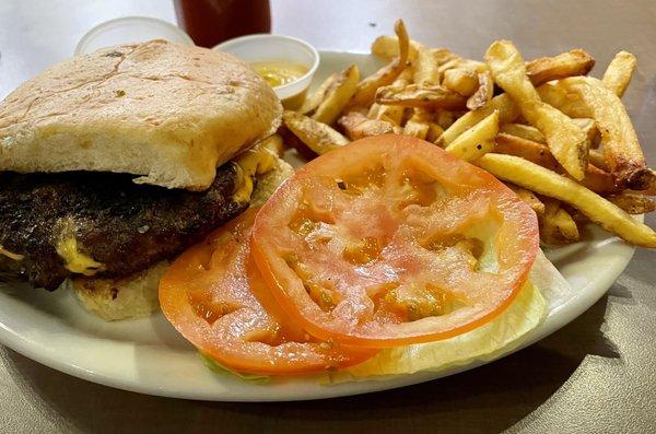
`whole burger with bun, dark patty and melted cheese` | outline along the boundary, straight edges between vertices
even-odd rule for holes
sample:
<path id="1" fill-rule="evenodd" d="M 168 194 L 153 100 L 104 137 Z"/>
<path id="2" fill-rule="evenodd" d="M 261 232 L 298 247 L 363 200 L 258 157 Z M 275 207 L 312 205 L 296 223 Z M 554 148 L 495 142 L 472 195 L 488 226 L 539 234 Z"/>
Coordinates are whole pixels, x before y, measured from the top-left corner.
<path id="1" fill-rule="evenodd" d="M 293 169 L 244 62 L 164 40 L 56 64 L 0 104 L 0 279 L 105 319 L 159 306 L 169 261 Z"/>

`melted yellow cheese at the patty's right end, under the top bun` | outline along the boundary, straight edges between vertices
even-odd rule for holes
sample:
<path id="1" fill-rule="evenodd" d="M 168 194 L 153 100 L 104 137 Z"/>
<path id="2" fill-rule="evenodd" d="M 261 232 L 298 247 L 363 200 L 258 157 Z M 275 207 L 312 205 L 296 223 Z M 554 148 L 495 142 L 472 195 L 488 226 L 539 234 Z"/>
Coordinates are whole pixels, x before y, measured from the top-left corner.
<path id="1" fill-rule="evenodd" d="M 265 174 L 276 167 L 280 149 L 279 137 L 274 136 L 253 149 L 244 152 L 235 161 L 237 176 L 233 200 L 238 203 L 250 201 L 255 188 L 255 175 Z"/>

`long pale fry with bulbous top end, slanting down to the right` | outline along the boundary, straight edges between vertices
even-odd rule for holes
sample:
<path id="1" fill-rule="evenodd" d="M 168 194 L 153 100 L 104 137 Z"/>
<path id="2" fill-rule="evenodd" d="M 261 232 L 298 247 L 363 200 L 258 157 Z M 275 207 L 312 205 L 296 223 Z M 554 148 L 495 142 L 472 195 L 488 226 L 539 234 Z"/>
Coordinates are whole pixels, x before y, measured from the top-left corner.
<path id="1" fill-rule="evenodd" d="M 507 40 L 494 42 L 485 60 L 496 84 L 511 95 L 526 120 L 544 134 L 558 162 L 575 179 L 583 179 L 588 151 L 585 133 L 565 114 L 540 101 L 517 48 Z"/>

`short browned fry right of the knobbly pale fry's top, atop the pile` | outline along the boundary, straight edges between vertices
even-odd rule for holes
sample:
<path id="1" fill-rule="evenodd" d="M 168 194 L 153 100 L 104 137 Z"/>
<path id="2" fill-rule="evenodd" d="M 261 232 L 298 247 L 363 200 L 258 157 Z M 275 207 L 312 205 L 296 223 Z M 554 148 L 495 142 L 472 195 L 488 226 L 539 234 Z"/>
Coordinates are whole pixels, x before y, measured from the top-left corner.
<path id="1" fill-rule="evenodd" d="M 561 52 L 554 57 L 541 57 L 526 63 L 526 74 L 534 86 L 551 80 L 585 75 L 595 66 L 595 59 L 582 49 Z"/>

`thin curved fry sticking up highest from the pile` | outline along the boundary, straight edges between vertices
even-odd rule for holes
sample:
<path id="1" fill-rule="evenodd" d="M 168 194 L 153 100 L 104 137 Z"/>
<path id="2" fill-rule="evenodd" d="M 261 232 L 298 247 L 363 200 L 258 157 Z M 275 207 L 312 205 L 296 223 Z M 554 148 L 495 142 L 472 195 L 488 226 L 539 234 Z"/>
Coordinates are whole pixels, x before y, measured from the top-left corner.
<path id="1" fill-rule="evenodd" d="M 406 31 L 406 24 L 402 20 L 398 20 L 394 30 L 398 37 L 399 57 L 358 83 L 355 94 L 349 103 L 350 107 L 368 107 L 374 102 L 378 87 L 391 84 L 408 66 L 410 38 Z"/>

